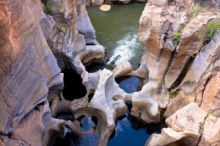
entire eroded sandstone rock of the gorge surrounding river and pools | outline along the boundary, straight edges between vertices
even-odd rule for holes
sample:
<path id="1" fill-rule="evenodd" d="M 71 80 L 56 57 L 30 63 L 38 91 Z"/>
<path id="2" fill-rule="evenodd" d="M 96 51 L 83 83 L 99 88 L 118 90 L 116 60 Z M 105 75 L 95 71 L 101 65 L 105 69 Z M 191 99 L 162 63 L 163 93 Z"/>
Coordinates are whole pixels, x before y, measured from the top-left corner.
<path id="1" fill-rule="evenodd" d="M 192 15 L 200 2 L 203 10 Z M 149 0 L 140 18 L 139 69 L 121 61 L 113 72 L 95 73 L 85 66 L 104 63 L 105 48 L 96 41 L 85 5 L 83 0 L 0 1 L 0 144 L 53 145 L 67 131 L 95 130 L 98 145 L 107 145 L 126 101 L 139 120 L 166 119 L 168 128 L 146 145 L 219 144 L 220 31 L 207 40 L 209 24 L 219 25 L 219 1 Z M 84 97 L 63 97 L 65 69 L 81 77 Z M 115 78 L 131 75 L 143 80 L 143 88 L 127 94 Z M 62 113 L 94 116 L 98 124 L 84 132 L 77 120 L 57 119 Z"/>

